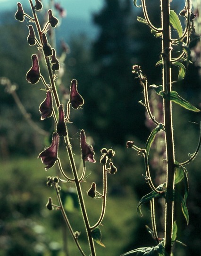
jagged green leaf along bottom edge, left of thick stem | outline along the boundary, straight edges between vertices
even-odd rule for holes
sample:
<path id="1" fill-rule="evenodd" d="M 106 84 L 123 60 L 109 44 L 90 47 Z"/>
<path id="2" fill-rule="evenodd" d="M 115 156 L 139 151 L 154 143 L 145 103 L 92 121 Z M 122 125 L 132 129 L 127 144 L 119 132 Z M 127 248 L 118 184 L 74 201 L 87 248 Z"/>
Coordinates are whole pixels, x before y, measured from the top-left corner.
<path id="1" fill-rule="evenodd" d="M 163 242 L 160 242 L 155 247 L 141 247 L 130 252 L 124 253 L 121 256 L 167 256 Z"/>

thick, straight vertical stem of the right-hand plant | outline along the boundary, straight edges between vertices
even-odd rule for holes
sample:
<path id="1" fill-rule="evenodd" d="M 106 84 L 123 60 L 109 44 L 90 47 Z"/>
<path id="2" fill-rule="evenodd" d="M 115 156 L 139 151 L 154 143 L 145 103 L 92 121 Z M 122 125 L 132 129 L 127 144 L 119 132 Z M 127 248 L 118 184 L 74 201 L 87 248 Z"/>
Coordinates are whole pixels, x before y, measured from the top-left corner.
<path id="1" fill-rule="evenodd" d="M 170 51 L 170 5 L 169 0 L 161 0 L 162 9 L 162 56 L 163 56 L 163 90 L 168 94 L 171 91 L 171 51 Z M 164 100 L 164 122 L 166 129 L 166 153 L 167 153 L 167 199 L 166 199 L 166 223 L 165 223 L 165 250 L 171 254 L 171 238 L 173 227 L 173 191 L 174 191 L 174 141 L 172 128 L 172 104 Z"/>

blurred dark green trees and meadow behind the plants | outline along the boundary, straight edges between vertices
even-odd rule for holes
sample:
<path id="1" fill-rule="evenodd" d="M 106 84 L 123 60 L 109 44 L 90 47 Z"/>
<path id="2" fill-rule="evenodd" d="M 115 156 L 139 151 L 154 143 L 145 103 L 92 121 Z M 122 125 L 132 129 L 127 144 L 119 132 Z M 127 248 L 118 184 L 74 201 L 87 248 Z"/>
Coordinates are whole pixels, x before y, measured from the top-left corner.
<path id="1" fill-rule="evenodd" d="M 0 17 L 0 77 L 10 81 L 0 80 L 0 256 L 76 256 L 78 251 L 60 212 L 45 208 L 48 197 L 52 197 L 57 204 L 54 190 L 46 185 L 46 177 L 57 175 L 58 169 L 55 165 L 45 172 L 37 156 L 44 146 L 50 145 L 54 124 L 51 119 L 40 120 L 38 109 L 45 98 L 45 92 L 40 90 L 42 82 L 31 85 L 25 80 L 25 74 L 31 67 L 31 55 L 37 53 L 40 58 L 41 54 L 40 49 L 30 47 L 26 41 L 28 22 L 19 23 L 14 19 L 17 4 L 14 2 L 13 11 L 2 12 Z M 147 5 L 152 22 L 159 27 L 159 2 L 155 2 Z M 184 5 L 183 1 L 173 1 L 172 4 L 177 13 Z M 28 8 L 26 10 L 30 13 Z M 71 110 L 70 120 L 73 123 L 69 124 L 69 133 L 76 164 L 81 165 L 80 129 L 85 130 L 87 141 L 92 143 L 97 161 L 96 164 L 86 164 L 87 174 L 91 174 L 83 183 L 84 199 L 92 224 L 99 219 L 101 200 L 88 198 L 86 191 L 91 182 L 96 182 L 98 190 L 102 190 L 100 149 L 106 147 L 116 151 L 113 162 L 117 166 L 117 174 L 108 177 L 107 208 L 100 228 L 106 248 L 97 245 L 97 255 L 118 256 L 137 247 L 155 246 L 145 228 L 145 225 L 151 227 L 149 205 L 142 207 L 143 218 L 136 213 L 138 201 L 150 192 L 142 176 L 145 174 L 143 159 L 132 149 L 126 149 L 126 141 L 134 140 L 136 145 L 144 147 L 153 128 L 144 107 L 138 103 L 143 100 L 142 86 L 132 74 L 132 66 L 141 65 L 149 84 L 159 85 L 161 68 L 155 67 L 155 64 L 160 57 L 160 39 L 151 35 L 148 26 L 136 21 L 136 16 L 143 15 L 141 9 L 134 8 L 132 0 L 102 0 L 100 10 L 92 14 L 91 27 L 71 35 L 67 33 L 68 29 L 73 30 L 74 25 L 81 26 L 82 20 L 70 23 L 69 19 L 65 23 L 66 18 L 59 17 L 57 10 L 54 9 L 53 13 L 61 22 L 55 29 L 56 40 L 51 43 L 57 47 L 61 60 L 56 82 L 62 103 L 65 105 L 67 102 L 72 79 L 78 81 L 78 91 L 85 101 L 82 110 Z M 43 22 L 45 10 L 39 17 Z M 193 41 L 194 63 L 189 65 L 184 81 L 174 84 L 173 90 L 196 107 L 201 107 L 198 44 L 198 40 Z M 47 79 L 42 60 L 40 67 Z M 176 71 L 173 71 L 173 76 L 176 77 Z M 33 123 L 28 123 L 17 107 L 11 93 L 13 90 L 28 113 L 26 118 Z M 162 121 L 160 100 L 151 91 L 150 98 L 154 115 Z M 201 116 L 173 105 L 173 120 L 176 160 L 183 162 L 196 149 Z M 44 136 L 41 129 L 49 135 Z M 164 138 L 159 134 L 151 149 L 150 161 L 151 174 L 157 185 L 164 182 L 163 150 Z M 69 160 L 62 146 L 59 156 L 70 176 Z M 201 255 L 200 156 L 187 166 L 190 183 L 188 226 L 180 207 L 175 210 L 179 227 L 177 239 L 187 245 L 178 245 L 176 256 Z M 71 183 L 61 186 L 69 219 L 74 230 L 81 231 L 80 243 L 89 254 L 75 188 Z M 159 236 L 163 237 L 164 217 L 160 205 L 159 201 L 157 226 Z"/>

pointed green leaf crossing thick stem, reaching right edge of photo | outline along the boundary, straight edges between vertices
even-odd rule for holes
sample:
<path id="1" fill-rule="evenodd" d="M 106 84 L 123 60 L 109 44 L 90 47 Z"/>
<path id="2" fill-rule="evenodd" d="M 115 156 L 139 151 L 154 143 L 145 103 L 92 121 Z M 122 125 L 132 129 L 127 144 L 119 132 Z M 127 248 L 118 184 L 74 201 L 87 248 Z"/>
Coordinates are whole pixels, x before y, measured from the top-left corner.
<path id="1" fill-rule="evenodd" d="M 161 94 L 162 95 L 162 94 Z M 176 91 L 170 91 L 170 93 L 167 95 L 163 93 L 163 98 L 168 99 L 170 101 L 175 102 L 176 104 L 182 106 L 184 109 L 191 110 L 194 112 L 200 112 L 201 110 L 194 107 L 190 102 L 184 100 L 182 97 L 178 95 Z"/>

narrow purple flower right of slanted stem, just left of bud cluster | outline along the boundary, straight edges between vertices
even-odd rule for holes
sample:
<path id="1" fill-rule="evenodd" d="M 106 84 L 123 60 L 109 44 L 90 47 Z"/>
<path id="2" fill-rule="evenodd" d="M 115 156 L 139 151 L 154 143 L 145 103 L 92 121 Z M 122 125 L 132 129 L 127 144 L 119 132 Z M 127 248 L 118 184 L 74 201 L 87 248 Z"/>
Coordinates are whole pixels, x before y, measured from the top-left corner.
<path id="1" fill-rule="evenodd" d="M 96 160 L 94 159 L 94 151 L 93 147 L 86 143 L 86 135 L 84 130 L 81 130 L 80 132 L 80 146 L 82 151 L 82 159 L 84 161 L 89 161 L 91 163 L 95 163 Z"/>

